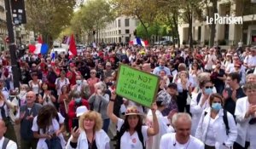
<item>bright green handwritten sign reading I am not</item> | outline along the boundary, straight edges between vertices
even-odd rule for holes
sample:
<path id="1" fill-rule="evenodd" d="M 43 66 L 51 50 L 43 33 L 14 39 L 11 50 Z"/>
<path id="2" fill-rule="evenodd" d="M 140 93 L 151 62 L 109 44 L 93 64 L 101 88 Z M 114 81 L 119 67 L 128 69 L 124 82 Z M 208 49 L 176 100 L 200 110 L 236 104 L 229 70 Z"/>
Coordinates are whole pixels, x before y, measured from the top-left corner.
<path id="1" fill-rule="evenodd" d="M 116 94 L 150 107 L 159 89 L 160 78 L 126 65 L 119 65 Z"/>

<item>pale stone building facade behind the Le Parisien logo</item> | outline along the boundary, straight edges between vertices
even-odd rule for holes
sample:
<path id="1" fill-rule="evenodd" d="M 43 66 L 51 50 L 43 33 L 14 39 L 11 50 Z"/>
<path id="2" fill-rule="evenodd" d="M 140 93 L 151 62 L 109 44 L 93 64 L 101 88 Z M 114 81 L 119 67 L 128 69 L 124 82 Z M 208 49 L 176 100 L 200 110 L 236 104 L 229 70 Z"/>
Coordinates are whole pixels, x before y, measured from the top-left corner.
<path id="1" fill-rule="evenodd" d="M 240 24 L 216 24 L 214 43 L 220 46 L 243 44 L 256 44 L 256 3 L 253 0 L 221 0 L 218 1 L 219 16 L 241 16 Z M 203 10 L 205 19 L 207 9 Z M 189 24 L 182 24 L 178 28 L 180 41 L 189 43 Z M 210 39 L 210 25 L 207 21 L 199 21 L 193 18 L 193 40 L 196 44 L 207 45 Z"/>

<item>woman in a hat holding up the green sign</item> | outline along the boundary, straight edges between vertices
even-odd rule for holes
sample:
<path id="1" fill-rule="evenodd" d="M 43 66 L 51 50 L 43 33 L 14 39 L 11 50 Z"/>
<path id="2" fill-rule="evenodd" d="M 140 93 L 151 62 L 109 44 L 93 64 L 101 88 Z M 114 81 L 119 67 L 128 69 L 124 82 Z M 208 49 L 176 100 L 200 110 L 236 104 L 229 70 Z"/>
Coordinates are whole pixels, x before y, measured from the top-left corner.
<path id="1" fill-rule="evenodd" d="M 143 117 L 141 113 L 137 111 L 136 106 L 127 108 L 125 112 L 125 120 L 116 117 L 113 114 L 113 102 L 116 99 L 114 91 L 111 95 L 111 100 L 108 104 L 108 117 L 117 125 L 119 131 L 117 148 L 122 149 L 137 148 L 144 149 L 145 141 L 148 140 L 148 136 L 153 136 L 159 133 L 159 123 L 155 114 L 156 109 L 151 109 L 153 114 L 153 128 L 143 126 Z M 132 135 L 131 135 L 132 134 Z M 129 141 L 127 141 L 129 140 Z"/>

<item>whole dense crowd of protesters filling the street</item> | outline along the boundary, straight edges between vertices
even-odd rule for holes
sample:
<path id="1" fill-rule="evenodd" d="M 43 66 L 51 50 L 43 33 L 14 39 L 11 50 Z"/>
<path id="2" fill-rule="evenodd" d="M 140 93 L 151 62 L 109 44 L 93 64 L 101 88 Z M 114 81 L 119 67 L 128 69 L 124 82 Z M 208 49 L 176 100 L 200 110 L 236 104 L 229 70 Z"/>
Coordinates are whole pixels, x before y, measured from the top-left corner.
<path id="1" fill-rule="evenodd" d="M 8 52 L 0 64 L 3 149 L 256 149 L 256 47 L 27 52 L 19 89 Z M 115 94 L 119 64 L 160 77 L 151 108 Z"/>

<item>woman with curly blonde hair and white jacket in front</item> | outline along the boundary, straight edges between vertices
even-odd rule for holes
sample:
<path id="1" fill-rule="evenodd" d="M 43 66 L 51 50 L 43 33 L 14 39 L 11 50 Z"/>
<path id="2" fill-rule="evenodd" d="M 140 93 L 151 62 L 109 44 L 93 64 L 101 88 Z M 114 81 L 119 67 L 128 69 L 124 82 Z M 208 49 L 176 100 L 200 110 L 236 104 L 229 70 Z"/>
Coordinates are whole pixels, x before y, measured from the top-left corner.
<path id="1" fill-rule="evenodd" d="M 79 117 L 79 129 L 74 127 L 67 149 L 110 149 L 109 137 L 102 129 L 102 116 L 98 112 L 84 112 Z"/>

